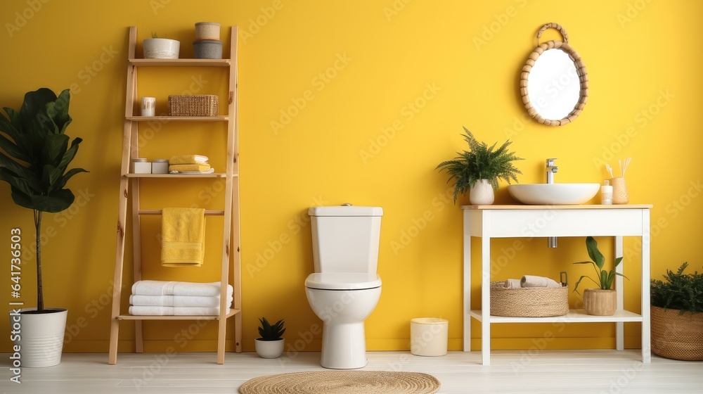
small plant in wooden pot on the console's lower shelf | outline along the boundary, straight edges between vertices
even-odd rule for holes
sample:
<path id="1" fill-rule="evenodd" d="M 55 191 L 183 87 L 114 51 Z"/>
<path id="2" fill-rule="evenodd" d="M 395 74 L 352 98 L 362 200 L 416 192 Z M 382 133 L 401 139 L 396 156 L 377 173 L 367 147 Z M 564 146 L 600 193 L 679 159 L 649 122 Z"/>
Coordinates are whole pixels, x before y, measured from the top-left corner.
<path id="1" fill-rule="evenodd" d="M 593 281 L 598 288 L 586 288 L 583 291 L 583 309 L 586 310 L 587 314 L 593 314 L 595 316 L 612 316 L 617 310 L 617 291 L 612 289 L 615 276 L 619 275 L 626 278 L 623 274 L 615 272 L 615 267 L 617 267 L 622 258 L 619 257 L 615 259 L 615 264 L 613 269 L 607 271 L 603 269 L 605 266 L 605 257 L 603 257 L 600 250 L 598 250 L 598 242 L 592 236 L 586 237 L 586 250 L 588 250 L 588 256 L 591 257 L 592 261 L 581 261 L 574 262 L 574 264 L 591 264 L 595 269 L 595 274 L 598 280 L 595 280 L 588 275 L 582 275 L 579 281 L 576 282 L 574 286 L 574 291 L 578 293 L 579 284 L 583 278 L 588 278 Z"/>

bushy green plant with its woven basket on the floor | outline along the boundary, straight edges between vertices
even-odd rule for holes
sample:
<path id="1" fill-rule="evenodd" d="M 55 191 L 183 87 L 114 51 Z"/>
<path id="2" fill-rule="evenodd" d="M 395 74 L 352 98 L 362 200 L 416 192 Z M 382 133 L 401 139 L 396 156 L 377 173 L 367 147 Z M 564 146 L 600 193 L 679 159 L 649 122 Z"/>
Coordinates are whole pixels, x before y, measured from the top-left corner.
<path id="1" fill-rule="evenodd" d="M 652 352 L 666 358 L 703 361 L 703 274 L 666 270 L 650 281 Z"/>

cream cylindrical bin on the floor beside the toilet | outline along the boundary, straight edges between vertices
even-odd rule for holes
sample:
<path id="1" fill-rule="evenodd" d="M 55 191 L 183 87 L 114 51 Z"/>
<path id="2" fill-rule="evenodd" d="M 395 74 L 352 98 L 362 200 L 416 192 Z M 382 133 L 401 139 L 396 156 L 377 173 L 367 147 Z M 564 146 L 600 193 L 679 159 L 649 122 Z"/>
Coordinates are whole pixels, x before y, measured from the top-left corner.
<path id="1" fill-rule="evenodd" d="M 410 352 L 418 356 L 446 355 L 449 321 L 417 317 L 410 321 Z"/>

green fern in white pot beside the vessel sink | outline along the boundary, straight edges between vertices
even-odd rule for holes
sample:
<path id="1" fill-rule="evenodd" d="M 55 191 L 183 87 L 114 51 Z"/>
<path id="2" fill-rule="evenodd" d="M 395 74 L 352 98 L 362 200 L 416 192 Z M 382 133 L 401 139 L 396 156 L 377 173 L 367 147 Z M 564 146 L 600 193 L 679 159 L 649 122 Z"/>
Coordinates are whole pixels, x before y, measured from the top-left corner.
<path id="1" fill-rule="evenodd" d="M 520 170 L 512 164 L 518 158 L 514 152 L 508 151 L 512 144 L 505 141 L 498 149 L 496 144 L 488 146 L 479 142 L 471 132 L 464 127 L 464 141 L 469 145 L 468 151 L 457 152 L 453 160 L 446 160 L 435 170 L 449 174 L 449 182 L 454 182 L 454 203 L 459 193 L 469 191 L 469 201 L 473 205 L 490 205 L 495 201 L 494 189 L 498 189 L 498 179 L 503 179 L 510 184 L 513 180 L 517 183 L 517 174 Z"/>

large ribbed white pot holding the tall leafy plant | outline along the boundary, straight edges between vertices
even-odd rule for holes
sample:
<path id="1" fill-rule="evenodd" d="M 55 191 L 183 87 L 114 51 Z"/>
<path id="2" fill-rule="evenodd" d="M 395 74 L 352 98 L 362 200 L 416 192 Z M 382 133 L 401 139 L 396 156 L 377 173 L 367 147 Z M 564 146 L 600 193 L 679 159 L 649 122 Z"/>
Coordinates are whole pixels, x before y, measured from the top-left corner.
<path id="1" fill-rule="evenodd" d="M 52 367 L 61 362 L 63 336 L 66 331 L 68 310 L 46 308 L 55 312 L 41 314 L 22 313 L 36 308 L 20 310 L 17 315 L 10 312 L 11 332 L 15 346 L 19 346 L 21 367 Z M 13 350 L 14 353 L 14 350 Z"/>

